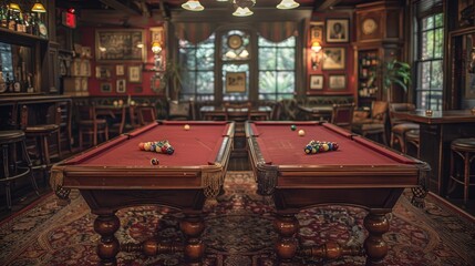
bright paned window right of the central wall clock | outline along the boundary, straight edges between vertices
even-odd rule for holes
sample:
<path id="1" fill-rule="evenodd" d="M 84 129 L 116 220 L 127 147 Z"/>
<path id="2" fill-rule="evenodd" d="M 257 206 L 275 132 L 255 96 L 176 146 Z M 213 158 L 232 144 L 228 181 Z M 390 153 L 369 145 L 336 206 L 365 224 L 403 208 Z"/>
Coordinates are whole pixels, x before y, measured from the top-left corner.
<path id="1" fill-rule="evenodd" d="M 259 100 L 293 98 L 296 90 L 296 38 L 278 43 L 259 37 Z"/>

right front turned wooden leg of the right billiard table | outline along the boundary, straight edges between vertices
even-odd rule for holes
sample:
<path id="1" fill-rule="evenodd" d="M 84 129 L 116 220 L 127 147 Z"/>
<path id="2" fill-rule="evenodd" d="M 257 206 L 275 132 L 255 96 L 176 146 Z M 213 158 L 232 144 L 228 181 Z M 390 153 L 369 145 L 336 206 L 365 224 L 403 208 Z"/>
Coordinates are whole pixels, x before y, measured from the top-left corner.
<path id="1" fill-rule="evenodd" d="M 366 266 L 384 265 L 383 259 L 388 255 L 388 244 L 383 235 L 390 229 L 390 223 L 385 216 L 389 211 L 374 211 L 364 218 L 364 227 L 369 232 L 364 241 L 364 250 L 366 253 Z"/>

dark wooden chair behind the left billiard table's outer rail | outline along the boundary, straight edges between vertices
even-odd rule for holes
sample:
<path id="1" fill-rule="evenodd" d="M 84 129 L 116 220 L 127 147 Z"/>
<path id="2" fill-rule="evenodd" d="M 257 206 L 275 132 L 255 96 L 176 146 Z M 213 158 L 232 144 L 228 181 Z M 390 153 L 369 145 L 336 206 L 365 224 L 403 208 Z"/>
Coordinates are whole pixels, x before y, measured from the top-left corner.
<path id="1" fill-rule="evenodd" d="M 109 140 L 109 125 L 105 119 L 97 117 L 95 106 L 80 105 L 78 106 L 79 115 L 79 145 L 81 150 L 84 145 L 84 135 L 89 136 L 92 145 L 97 145 L 97 136 L 104 135 L 105 141 Z"/>

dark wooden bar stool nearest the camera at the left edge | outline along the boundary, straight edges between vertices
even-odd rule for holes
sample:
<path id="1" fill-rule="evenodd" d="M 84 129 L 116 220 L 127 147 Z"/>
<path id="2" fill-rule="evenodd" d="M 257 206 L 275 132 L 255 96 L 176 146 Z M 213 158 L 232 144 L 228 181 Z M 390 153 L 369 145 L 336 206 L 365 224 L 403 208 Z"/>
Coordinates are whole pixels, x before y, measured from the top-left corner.
<path id="1" fill-rule="evenodd" d="M 3 162 L 3 176 L 0 178 L 0 183 L 6 185 L 7 207 L 11 209 L 11 187 L 10 184 L 16 180 L 30 175 L 31 184 L 37 195 L 40 195 L 38 190 L 37 181 L 34 180 L 31 160 L 28 155 L 27 144 L 24 143 L 24 132 L 14 131 L 0 131 L 0 145 L 2 150 L 2 162 Z M 21 161 L 17 160 L 17 145 L 21 145 Z M 22 162 L 24 165 L 18 165 Z M 12 171 L 11 171 L 12 170 Z"/>

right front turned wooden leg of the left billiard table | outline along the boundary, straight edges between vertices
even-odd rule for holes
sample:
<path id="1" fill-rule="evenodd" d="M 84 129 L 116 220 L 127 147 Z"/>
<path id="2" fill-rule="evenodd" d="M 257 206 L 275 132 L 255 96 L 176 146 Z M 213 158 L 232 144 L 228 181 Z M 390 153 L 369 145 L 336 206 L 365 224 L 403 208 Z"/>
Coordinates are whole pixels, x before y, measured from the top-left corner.
<path id="1" fill-rule="evenodd" d="M 205 231 L 205 222 L 200 213 L 185 213 L 179 228 L 185 236 L 185 262 L 187 265 L 202 265 L 205 244 L 200 235 Z"/>

